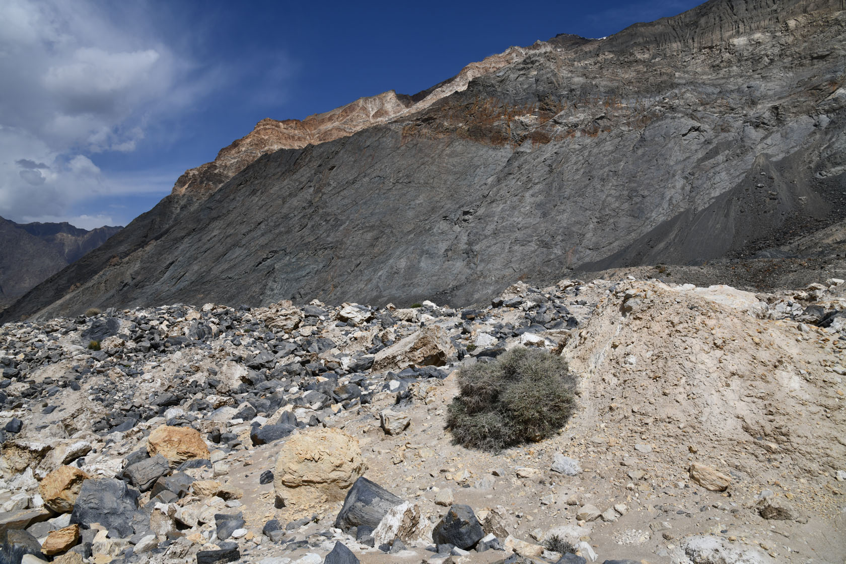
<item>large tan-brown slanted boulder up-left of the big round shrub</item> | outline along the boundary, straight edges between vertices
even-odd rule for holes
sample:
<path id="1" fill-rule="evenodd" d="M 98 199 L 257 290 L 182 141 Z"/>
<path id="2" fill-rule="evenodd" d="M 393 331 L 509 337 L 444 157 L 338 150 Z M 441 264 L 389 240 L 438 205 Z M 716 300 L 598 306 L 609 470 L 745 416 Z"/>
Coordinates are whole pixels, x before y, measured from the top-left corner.
<path id="1" fill-rule="evenodd" d="M 373 359 L 373 371 L 404 370 L 409 366 L 442 366 L 456 355 L 447 331 L 441 327 L 424 327 L 383 348 Z"/>

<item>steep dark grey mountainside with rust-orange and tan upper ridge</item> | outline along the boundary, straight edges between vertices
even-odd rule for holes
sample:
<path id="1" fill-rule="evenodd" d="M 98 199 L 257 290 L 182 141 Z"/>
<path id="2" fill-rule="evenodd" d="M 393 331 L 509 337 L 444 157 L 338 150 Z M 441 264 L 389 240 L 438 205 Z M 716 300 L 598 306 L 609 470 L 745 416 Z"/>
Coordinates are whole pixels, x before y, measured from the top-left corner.
<path id="1" fill-rule="evenodd" d="M 178 301 L 469 304 L 569 268 L 830 239 L 846 219 L 844 8 L 711 0 L 602 40 L 511 49 L 466 84 L 264 120 L 5 319 Z"/>

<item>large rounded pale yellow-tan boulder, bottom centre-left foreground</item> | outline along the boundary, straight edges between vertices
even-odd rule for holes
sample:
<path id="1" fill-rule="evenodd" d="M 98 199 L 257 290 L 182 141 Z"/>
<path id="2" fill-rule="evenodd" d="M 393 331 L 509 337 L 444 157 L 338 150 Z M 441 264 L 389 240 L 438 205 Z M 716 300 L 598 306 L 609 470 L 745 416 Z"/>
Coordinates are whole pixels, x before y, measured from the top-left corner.
<path id="1" fill-rule="evenodd" d="M 359 441 L 339 429 L 312 429 L 282 446 L 273 472 L 277 500 L 294 512 L 341 501 L 366 465 Z"/>

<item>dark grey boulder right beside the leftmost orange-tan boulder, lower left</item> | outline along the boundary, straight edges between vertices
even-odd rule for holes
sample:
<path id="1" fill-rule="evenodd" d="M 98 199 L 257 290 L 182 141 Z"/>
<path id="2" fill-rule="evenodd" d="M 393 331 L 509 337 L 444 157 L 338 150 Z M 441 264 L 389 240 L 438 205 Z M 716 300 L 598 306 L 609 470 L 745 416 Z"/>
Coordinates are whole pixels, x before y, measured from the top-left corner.
<path id="1" fill-rule="evenodd" d="M 138 508 L 138 491 L 129 489 L 119 479 L 86 479 L 74 503 L 70 522 L 88 525 L 100 523 L 118 538 L 134 533 L 132 517 Z"/>

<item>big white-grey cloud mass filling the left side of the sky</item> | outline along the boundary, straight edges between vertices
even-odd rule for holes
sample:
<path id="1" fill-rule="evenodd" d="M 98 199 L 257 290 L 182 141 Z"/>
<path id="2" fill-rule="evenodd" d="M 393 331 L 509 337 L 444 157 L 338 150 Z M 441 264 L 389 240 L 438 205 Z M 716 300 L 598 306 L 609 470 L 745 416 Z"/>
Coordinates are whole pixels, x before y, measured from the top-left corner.
<path id="1" fill-rule="evenodd" d="M 202 91 L 196 77 L 185 78 L 190 57 L 156 35 L 145 8 L 0 3 L 0 216 L 69 221 L 74 205 L 92 194 L 162 190 L 113 178 L 96 164 L 108 151 L 135 151 L 150 123 Z M 111 219 L 73 218 L 86 225 Z"/>

